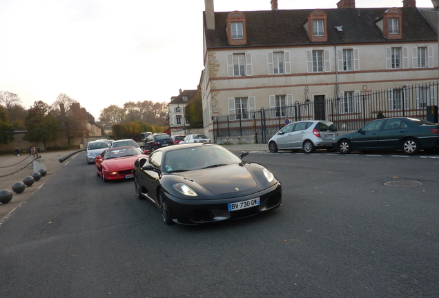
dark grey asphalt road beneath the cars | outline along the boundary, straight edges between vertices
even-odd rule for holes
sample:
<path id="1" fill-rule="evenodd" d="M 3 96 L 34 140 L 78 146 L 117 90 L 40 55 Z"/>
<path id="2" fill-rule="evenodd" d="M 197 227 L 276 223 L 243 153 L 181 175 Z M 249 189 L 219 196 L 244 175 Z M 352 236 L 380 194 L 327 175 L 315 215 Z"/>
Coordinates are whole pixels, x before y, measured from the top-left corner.
<path id="1" fill-rule="evenodd" d="M 439 297 L 439 159 L 244 160 L 282 181 L 279 209 L 166 226 L 80 153 L 3 220 L 0 297 Z"/>

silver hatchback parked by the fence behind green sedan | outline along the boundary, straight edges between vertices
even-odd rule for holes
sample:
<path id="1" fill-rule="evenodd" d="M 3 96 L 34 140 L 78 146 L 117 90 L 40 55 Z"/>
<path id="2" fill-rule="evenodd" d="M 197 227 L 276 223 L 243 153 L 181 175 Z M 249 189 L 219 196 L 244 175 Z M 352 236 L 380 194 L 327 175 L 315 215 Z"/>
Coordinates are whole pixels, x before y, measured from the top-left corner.
<path id="1" fill-rule="evenodd" d="M 331 141 L 338 136 L 331 121 L 297 121 L 289 123 L 269 140 L 270 152 L 300 150 L 312 153 L 315 149 L 333 150 Z"/>

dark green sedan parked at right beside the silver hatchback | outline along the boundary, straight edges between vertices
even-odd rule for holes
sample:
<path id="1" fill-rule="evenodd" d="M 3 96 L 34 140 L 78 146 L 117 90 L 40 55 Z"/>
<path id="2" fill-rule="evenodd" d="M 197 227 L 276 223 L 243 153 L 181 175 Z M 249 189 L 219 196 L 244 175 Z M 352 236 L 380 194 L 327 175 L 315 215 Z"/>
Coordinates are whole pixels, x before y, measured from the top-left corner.
<path id="1" fill-rule="evenodd" d="M 411 117 L 378 119 L 336 137 L 332 146 L 342 154 L 352 150 L 402 150 L 407 155 L 417 155 L 421 149 L 439 148 L 439 126 Z"/>

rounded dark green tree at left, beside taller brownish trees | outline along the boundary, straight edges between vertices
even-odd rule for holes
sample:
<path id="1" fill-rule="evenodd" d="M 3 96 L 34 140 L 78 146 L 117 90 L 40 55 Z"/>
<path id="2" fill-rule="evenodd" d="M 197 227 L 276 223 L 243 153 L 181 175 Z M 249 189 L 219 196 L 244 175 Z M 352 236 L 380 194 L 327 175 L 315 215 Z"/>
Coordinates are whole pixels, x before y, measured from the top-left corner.
<path id="1" fill-rule="evenodd" d="M 31 142 L 42 141 L 46 148 L 46 141 L 55 141 L 59 130 L 59 124 L 50 106 L 43 101 L 35 101 L 29 108 L 25 120 L 28 130 L 23 139 Z"/>

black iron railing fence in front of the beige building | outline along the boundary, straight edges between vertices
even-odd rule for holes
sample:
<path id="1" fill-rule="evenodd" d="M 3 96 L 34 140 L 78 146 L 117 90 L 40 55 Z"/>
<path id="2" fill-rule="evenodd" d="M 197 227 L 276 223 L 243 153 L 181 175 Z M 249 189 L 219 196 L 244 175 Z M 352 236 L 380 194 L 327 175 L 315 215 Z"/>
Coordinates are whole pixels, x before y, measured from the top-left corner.
<path id="1" fill-rule="evenodd" d="M 220 116 L 215 118 L 213 129 L 215 140 L 254 135 L 257 143 L 267 143 L 293 121 L 333 121 L 339 131 L 357 130 L 369 121 L 387 117 L 416 117 L 438 123 L 438 105 L 438 83 L 422 83 L 370 92 L 338 92 L 334 98 Z"/>

